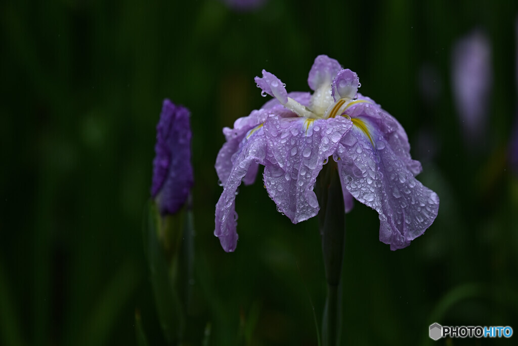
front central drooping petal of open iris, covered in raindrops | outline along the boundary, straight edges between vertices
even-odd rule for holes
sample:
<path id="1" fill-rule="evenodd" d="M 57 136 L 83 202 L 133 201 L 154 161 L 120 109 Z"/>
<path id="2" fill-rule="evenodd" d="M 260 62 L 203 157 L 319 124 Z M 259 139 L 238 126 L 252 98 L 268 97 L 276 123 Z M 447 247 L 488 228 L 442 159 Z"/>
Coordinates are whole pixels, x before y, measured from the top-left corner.
<path id="1" fill-rule="evenodd" d="M 294 224 L 315 216 L 319 204 L 313 192 L 322 165 L 351 128 L 346 119 L 268 118 L 264 133 L 268 157 L 264 181 L 278 209 Z"/>

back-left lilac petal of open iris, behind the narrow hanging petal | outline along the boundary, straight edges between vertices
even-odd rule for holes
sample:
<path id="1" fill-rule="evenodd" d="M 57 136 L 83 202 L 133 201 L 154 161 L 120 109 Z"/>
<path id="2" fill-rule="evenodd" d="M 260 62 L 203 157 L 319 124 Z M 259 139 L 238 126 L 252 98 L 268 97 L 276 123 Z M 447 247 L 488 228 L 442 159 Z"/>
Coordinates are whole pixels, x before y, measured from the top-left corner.
<path id="1" fill-rule="evenodd" d="M 254 110 L 249 116 L 237 119 L 234 122 L 233 129 L 227 127 L 223 129 L 226 142 L 220 149 L 214 166 L 221 184 L 226 183 L 228 175 L 232 171 L 232 157 L 239 151 L 239 145 L 243 141 L 244 137 L 246 137 L 250 131 L 253 131 L 265 122 L 271 112 L 278 112 L 282 109 L 285 108 L 278 105 L 276 107 L 272 107 L 272 109 Z M 254 169 L 254 166 L 251 169 Z M 249 183 L 253 183 L 256 173 L 257 168 L 255 167 L 255 173 L 252 172 L 250 175 L 247 175 L 248 178 L 245 184 L 249 185 Z M 254 179 L 251 179 L 252 176 Z"/>

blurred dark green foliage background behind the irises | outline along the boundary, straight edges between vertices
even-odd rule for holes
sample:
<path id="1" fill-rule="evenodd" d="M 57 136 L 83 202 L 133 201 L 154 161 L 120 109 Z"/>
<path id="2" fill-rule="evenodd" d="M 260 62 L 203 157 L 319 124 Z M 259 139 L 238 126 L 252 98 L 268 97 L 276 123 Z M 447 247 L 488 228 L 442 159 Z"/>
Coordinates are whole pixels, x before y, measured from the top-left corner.
<path id="1" fill-rule="evenodd" d="M 361 92 L 401 122 L 423 163 L 419 179 L 441 200 L 424 236 L 396 252 L 378 240 L 377 213 L 355 203 L 342 343 L 431 344 L 433 322 L 518 332 L 518 173 L 507 161 L 517 14 L 514 1 L 270 0 L 247 13 L 215 0 L 4 2 L 0 344 L 132 345 L 136 310 L 150 344 L 164 344 L 141 224 L 155 126 L 170 98 L 192 112 L 187 344 L 210 329 L 209 345 L 316 345 L 326 292 L 316 219 L 291 224 L 259 175 L 237 197 L 236 252 L 223 252 L 212 232 L 222 127 L 266 101 L 253 81 L 263 68 L 288 91 L 309 90 L 318 54 L 357 72 Z M 451 53 L 477 28 L 491 41 L 494 83 L 484 136 L 466 145 Z M 423 66 L 436 71 L 432 101 L 420 91 Z"/>

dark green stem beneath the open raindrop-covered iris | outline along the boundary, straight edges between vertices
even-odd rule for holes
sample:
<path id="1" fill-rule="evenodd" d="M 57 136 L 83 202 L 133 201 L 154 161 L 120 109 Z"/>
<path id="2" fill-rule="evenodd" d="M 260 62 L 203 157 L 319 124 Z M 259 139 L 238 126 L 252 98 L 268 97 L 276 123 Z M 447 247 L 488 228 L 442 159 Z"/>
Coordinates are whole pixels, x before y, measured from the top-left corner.
<path id="1" fill-rule="evenodd" d="M 320 202 L 319 228 L 327 280 L 327 299 L 322 320 L 323 346 L 340 343 L 340 276 L 344 255 L 345 216 L 338 167 L 329 160 L 319 174 L 317 195 Z"/>

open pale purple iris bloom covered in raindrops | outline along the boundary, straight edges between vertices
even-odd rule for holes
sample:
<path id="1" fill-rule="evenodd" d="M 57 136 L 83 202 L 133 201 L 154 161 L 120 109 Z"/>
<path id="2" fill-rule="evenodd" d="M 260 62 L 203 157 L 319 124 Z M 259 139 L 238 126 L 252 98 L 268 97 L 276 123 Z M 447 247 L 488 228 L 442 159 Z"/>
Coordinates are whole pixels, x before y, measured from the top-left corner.
<path id="1" fill-rule="evenodd" d="M 439 198 L 415 179 L 422 168 L 410 157 L 405 130 L 357 93 L 356 73 L 318 56 L 308 77 L 312 94 L 287 93 L 279 78 L 264 70 L 255 82 L 275 99 L 237 119 L 233 129 L 223 129 L 226 143 L 215 164 L 224 189 L 214 234 L 225 251 L 234 251 L 238 239 L 237 187 L 254 182 L 259 164 L 268 195 L 294 224 L 319 212 L 313 187 L 330 156 L 337 162 L 345 212 L 353 197 L 375 209 L 380 240 L 391 250 L 409 245 L 434 222 Z"/>

